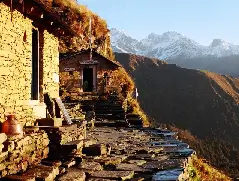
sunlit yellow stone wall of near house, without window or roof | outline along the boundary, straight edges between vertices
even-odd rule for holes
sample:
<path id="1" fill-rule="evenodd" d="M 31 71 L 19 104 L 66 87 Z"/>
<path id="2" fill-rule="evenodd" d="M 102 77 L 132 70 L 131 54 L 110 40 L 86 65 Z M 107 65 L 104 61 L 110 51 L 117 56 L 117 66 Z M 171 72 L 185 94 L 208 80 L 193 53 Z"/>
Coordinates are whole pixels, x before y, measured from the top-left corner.
<path id="1" fill-rule="evenodd" d="M 0 3 L 0 116 L 16 112 L 24 125 L 32 125 L 35 118 L 45 117 L 43 94 L 58 97 L 58 39 L 43 27 L 39 31 L 41 100 L 31 100 L 32 76 L 32 20 Z M 37 27 L 35 27 L 37 28 Z M 38 29 L 39 30 L 39 29 Z"/>

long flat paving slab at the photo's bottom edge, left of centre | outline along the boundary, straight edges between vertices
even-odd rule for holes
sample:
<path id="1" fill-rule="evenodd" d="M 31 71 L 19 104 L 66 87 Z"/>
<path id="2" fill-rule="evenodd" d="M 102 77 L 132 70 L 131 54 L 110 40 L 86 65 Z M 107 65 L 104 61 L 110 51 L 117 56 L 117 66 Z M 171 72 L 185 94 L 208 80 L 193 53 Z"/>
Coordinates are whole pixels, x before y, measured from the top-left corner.
<path id="1" fill-rule="evenodd" d="M 127 180 L 134 176 L 134 171 L 97 171 L 90 174 L 91 178 L 101 178 L 101 179 L 120 179 Z"/>

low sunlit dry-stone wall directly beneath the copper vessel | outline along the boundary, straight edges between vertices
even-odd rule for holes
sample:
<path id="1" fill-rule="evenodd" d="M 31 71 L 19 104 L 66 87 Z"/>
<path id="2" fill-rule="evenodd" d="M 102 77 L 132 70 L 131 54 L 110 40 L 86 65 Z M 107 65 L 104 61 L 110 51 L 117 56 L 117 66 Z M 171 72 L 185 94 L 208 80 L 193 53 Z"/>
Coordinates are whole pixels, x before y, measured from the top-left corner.
<path id="1" fill-rule="evenodd" d="M 2 137 L 2 136 L 0 136 Z M 2 139 L 0 139 L 2 140 Z M 3 142 L 0 159 L 0 176 L 26 171 L 47 158 L 49 139 L 44 131 L 22 136 L 11 136 Z"/>

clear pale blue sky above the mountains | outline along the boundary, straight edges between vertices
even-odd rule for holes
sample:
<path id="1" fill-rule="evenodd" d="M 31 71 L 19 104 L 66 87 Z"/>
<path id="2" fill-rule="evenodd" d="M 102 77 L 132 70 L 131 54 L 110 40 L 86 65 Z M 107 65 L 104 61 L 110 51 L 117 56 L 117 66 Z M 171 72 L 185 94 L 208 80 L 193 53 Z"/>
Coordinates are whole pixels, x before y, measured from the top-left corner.
<path id="1" fill-rule="evenodd" d="M 176 31 L 202 45 L 239 45 L 239 0 L 78 0 L 135 39 Z"/>

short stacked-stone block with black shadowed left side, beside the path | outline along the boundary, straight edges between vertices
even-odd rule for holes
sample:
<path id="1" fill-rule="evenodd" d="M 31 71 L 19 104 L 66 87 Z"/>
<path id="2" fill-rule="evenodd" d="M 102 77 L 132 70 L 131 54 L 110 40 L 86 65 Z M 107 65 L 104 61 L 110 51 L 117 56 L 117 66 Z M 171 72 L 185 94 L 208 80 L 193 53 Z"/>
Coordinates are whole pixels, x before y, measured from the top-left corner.
<path id="1" fill-rule="evenodd" d="M 62 127 L 42 127 L 41 129 L 47 132 L 51 142 L 49 145 L 50 158 L 58 159 L 82 150 L 86 132 L 85 125 L 73 124 Z"/>

